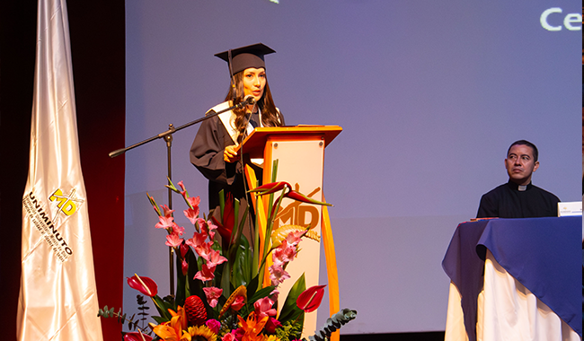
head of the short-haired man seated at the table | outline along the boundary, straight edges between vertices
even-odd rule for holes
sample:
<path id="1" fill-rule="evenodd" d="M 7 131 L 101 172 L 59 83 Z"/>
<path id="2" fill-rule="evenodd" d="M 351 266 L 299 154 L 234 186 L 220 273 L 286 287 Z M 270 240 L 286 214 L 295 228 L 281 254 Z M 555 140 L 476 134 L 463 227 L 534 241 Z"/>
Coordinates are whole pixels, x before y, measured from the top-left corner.
<path id="1" fill-rule="evenodd" d="M 509 149 L 505 169 L 511 181 L 518 185 L 528 185 L 531 182 L 531 174 L 538 167 L 539 162 L 534 161 L 534 151 L 530 146 L 516 144 Z"/>

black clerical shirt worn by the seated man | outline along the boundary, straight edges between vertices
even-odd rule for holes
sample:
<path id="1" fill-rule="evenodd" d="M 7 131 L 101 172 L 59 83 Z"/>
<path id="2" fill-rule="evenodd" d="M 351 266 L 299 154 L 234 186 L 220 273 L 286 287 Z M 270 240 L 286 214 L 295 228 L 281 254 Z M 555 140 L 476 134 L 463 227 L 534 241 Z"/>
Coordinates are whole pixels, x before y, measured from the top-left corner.
<path id="1" fill-rule="evenodd" d="M 558 216 L 560 199 L 531 183 L 525 190 L 508 183 L 492 189 L 481 197 L 477 218 L 535 218 Z"/>

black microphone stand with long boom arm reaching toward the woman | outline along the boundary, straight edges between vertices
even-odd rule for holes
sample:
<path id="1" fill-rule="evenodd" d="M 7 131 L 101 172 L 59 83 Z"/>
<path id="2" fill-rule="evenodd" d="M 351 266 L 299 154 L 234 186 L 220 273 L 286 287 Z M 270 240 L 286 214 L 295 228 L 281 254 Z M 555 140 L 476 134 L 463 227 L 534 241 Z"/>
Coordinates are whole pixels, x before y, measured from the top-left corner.
<path id="1" fill-rule="evenodd" d="M 205 116 L 205 117 L 202 117 L 202 118 L 197 118 L 194 121 L 190 121 L 189 123 L 184 124 L 181 127 L 174 127 L 173 124 L 171 123 L 171 124 L 168 125 L 168 130 L 166 130 L 165 132 L 160 133 L 160 134 L 158 134 L 156 136 L 152 136 L 152 137 L 150 137 L 150 138 L 148 138 L 148 139 L 146 139 L 146 140 L 144 140 L 142 142 L 138 142 L 137 144 L 132 144 L 132 145 L 126 147 L 126 148 L 117 149 L 117 150 L 109 153 L 109 155 L 110 155 L 111 158 L 114 158 L 114 157 L 119 156 L 119 155 L 121 155 L 123 153 L 126 153 L 129 150 L 134 149 L 134 148 L 136 148 L 136 147 L 138 147 L 138 146 L 140 146 L 142 144 L 147 144 L 147 143 L 152 142 L 154 140 L 157 140 L 159 138 L 163 138 L 164 141 L 166 141 L 166 162 L 167 162 L 167 165 L 168 165 L 168 175 L 167 176 L 168 176 L 168 179 L 169 180 L 172 180 L 173 179 L 173 169 L 172 169 L 172 166 L 171 166 L 172 165 L 172 162 L 171 162 L 171 154 L 172 153 L 171 153 L 171 151 L 172 151 L 172 147 L 173 147 L 173 134 L 176 133 L 179 130 L 182 130 L 182 129 L 186 128 L 186 127 L 190 127 L 192 125 L 196 125 L 197 123 L 200 123 L 200 122 L 202 122 L 202 121 L 204 121 L 204 120 L 206 120 L 208 118 L 213 118 L 213 117 L 215 117 L 215 116 L 217 116 L 219 114 L 222 114 L 222 113 L 224 113 L 226 111 L 242 108 L 243 106 L 245 106 L 247 104 L 253 104 L 253 103 L 249 103 L 249 101 L 247 101 L 247 99 L 246 99 L 246 101 L 242 101 L 241 103 L 235 104 L 234 106 L 231 106 L 229 108 L 226 108 L 226 109 L 223 109 L 223 110 L 219 110 L 217 112 L 214 112 L 212 114 L 209 114 L 208 116 Z M 170 208 L 170 209 L 173 209 L 173 197 L 172 197 L 172 194 L 173 194 L 173 190 L 171 188 L 168 188 L 168 208 Z M 173 267 L 174 257 L 173 257 L 173 253 L 174 253 L 173 248 L 172 247 L 169 247 L 168 248 L 168 260 L 169 260 L 170 279 L 171 279 L 171 281 L 170 281 L 170 287 L 171 287 L 171 293 L 170 294 L 171 294 L 171 296 L 174 296 L 174 267 Z"/>

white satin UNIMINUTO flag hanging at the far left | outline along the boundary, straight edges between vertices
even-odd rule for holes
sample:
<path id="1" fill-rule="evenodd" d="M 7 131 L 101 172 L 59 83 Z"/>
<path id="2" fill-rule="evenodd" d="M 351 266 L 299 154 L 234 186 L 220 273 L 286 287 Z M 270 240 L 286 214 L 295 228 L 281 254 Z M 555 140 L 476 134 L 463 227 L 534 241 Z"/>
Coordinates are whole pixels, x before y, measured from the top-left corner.
<path id="1" fill-rule="evenodd" d="M 102 340 L 79 160 L 66 0 L 39 0 L 20 340 Z"/>

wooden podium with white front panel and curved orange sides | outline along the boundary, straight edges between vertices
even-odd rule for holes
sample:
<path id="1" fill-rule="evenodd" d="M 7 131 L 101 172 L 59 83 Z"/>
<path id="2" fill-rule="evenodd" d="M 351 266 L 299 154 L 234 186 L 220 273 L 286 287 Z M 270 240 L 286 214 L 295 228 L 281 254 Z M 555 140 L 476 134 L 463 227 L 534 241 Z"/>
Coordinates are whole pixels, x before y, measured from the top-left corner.
<path id="1" fill-rule="evenodd" d="M 247 136 L 240 149 L 243 155 L 252 159 L 263 158 L 262 183 L 272 182 L 272 164 L 278 160 L 276 181 L 286 181 L 293 189 L 312 197 L 318 201 L 323 198 L 323 166 L 324 148 L 341 133 L 339 126 L 298 126 L 298 127 L 258 127 Z M 257 160 L 255 163 L 258 163 Z M 255 188 L 254 174 L 250 174 L 250 167 L 246 167 L 249 188 Z M 264 197 L 267 203 L 268 196 Z M 254 205 L 256 205 L 254 203 Z M 256 205 L 257 206 L 257 205 Z M 263 207 L 263 208 L 262 208 Z M 267 205 L 260 205 L 265 212 Z M 323 219 L 323 214 L 326 219 Z M 258 214 L 260 215 L 260 214 Z M 265 234 L 265 216 L 258 219 Z M 263 222 L 262 222 L 263 218 Z M 311 226 L 319 236 L 322 233 L 323 245 L 326 253 L 327 271 L 329 274 L 329 299 L 331 315 L 339 310 L 339 284 L 336 273 L 336 259 L 328 213 L 326 207 L 296 202 L 285 198 L 277 214 L 274 229 L 284 224 Z M 323 228 L 323 225 L 324 228 Z M 291 278 L 279 285 L 280 298 L 283 300 L 296 279 L 305 274 L 306 288 L 319 284 L 319 263 L 321 245 L 318 241 L 303 239 L 300 243 L 298 257 L 288 264 L 286 271 Z M 283 302 L 280 302 L 279 309 Z M 314 335 L 316 329 L 316 311 L 305 314 L 303 337 Z M 338 332 L 336 337 L 338 340 Z M 332 339 L 334 339 L 332 338 Z"/>

